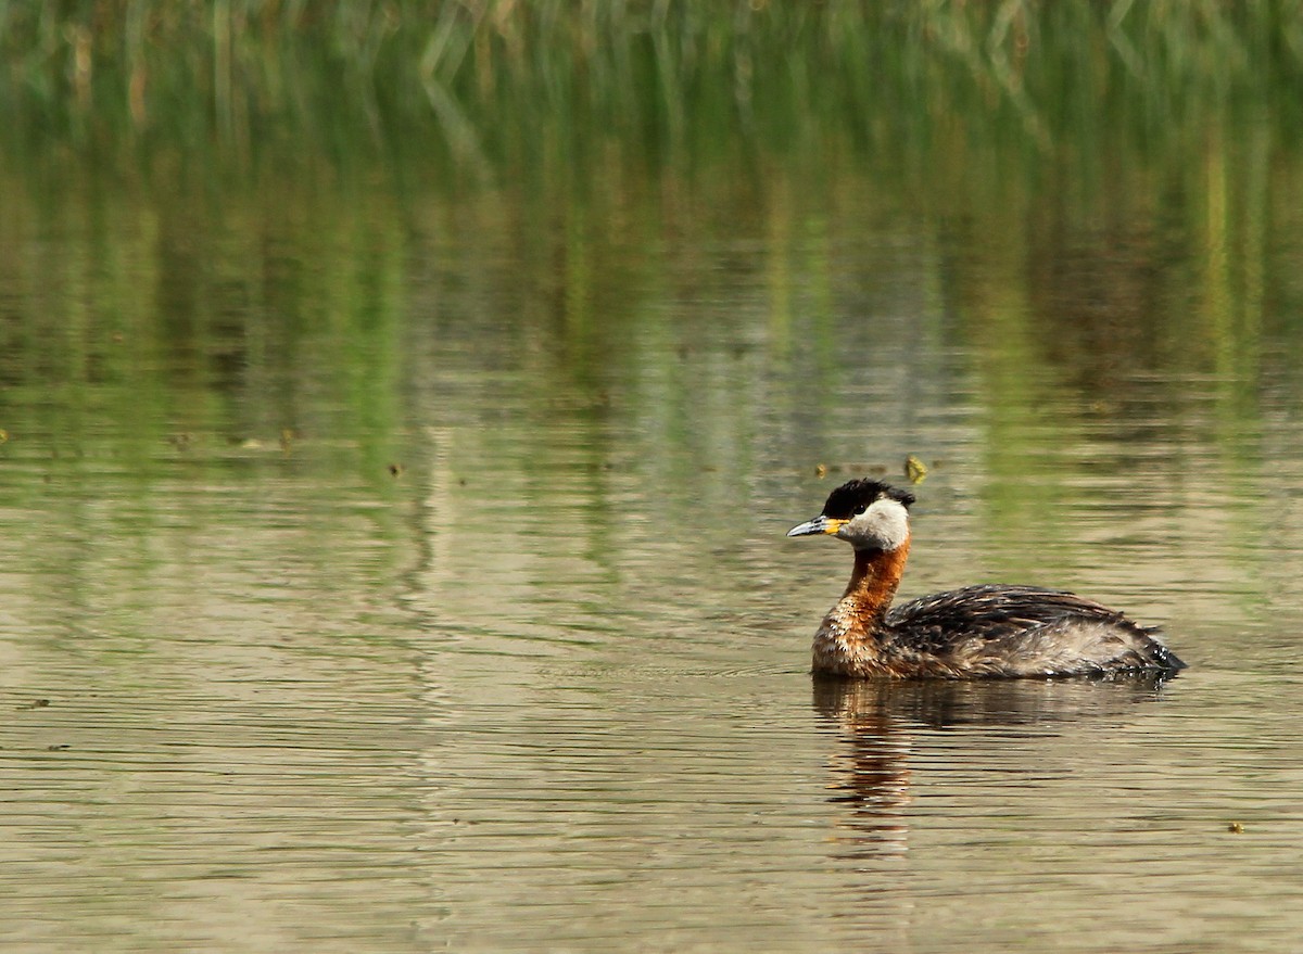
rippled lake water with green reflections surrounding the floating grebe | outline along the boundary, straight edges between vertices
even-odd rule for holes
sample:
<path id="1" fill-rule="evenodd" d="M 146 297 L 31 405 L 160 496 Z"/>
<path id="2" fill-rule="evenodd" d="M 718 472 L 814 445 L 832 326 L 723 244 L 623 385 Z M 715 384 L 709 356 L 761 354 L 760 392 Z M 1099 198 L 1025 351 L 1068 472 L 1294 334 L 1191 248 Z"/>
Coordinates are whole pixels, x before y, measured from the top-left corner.
<path id="1" fill-rule="evenodd" d="M 4 949 L 1296 949 L 1303 158 L 1234 133 L 10 162 Z M 1190 669 L 812 678 L 850 553 L 784 533 L 908 455 L 903 597 L 1071 588 Z"/>

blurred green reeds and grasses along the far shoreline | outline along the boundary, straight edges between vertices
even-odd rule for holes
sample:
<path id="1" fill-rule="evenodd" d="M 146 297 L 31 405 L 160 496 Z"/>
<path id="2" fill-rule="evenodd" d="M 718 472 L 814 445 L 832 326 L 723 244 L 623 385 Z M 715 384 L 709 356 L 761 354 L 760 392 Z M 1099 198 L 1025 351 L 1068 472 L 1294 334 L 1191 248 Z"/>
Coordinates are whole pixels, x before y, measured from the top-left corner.
<path id="1" fill-rule="evenodd" d="M 20 166 L 414 159 L 473 182 L 1303 130 L 1303 0 L 83 0 L 4 5 L 0 51 Z"/>

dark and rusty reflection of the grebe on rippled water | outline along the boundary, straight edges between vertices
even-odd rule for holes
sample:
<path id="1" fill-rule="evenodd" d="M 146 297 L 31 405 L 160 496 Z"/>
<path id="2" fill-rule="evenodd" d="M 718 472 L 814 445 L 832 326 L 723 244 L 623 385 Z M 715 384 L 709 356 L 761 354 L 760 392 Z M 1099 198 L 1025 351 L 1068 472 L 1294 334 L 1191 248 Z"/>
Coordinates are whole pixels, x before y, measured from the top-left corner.
<path id="1" fill-rule="evenodd" d="M 886 682 L 816 676 L 814 710 L 837 732 L 829 802 L 844 808 L 837 841 L 852 858 L 908 848 L 909 755 L 937 731 L 1036 727 L 1118 718 L 1160 697 L 1158 675 L 1127 679 Z"/>

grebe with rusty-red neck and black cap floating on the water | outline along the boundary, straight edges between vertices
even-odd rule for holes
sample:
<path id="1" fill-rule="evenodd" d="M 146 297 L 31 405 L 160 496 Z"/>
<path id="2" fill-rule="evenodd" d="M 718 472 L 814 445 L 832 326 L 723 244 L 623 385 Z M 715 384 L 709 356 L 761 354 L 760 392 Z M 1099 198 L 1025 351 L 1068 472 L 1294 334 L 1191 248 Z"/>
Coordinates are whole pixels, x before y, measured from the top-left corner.
<path id="1" fill-rule="evenodd" d="M 826 533 L 855 547 L 846 594 L 814 635 L 816 672 L 984 679 L 1184 669 L 1156 628 L 1063 590 L 986 584 L 891 609 L 909 554 L 912 503 L 907 490 L 855 480 L 787 533 Z"/>

